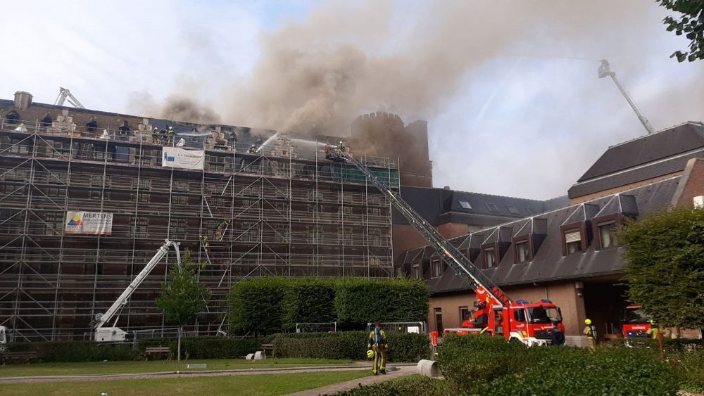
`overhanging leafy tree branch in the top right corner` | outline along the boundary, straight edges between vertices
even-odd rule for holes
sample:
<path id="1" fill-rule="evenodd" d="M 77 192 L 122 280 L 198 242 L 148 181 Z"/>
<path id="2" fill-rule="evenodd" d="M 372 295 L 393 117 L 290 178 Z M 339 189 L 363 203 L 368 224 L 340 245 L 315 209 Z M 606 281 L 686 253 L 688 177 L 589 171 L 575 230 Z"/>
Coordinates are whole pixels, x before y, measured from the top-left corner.
<path id="1" fill-rule="evenodd" d="M 689 41 L 689 51 L 675 51 L 670 58 L 678 62 L 704 59 L 704 0 L 655 0 L 668 10 L 677 11 L 679 18 L 667 16 L 662 23 L 667 25 L 667 31 L 681 36 L 685 34 Z"/>

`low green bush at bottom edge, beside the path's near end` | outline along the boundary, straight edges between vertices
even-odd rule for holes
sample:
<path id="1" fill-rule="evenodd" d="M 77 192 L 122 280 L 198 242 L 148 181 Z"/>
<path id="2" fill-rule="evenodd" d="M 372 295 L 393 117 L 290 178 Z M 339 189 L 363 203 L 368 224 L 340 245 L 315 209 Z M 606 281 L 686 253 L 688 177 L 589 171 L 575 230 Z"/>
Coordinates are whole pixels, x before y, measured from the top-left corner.
<path id="1" fill-rule="evenodd" d="M 359 385 L 351 390 L 337 392 L 335 396 L 453 396 L 457 394 L 458 392 L 447 381 L 410 376 L 375 385 Z"/>

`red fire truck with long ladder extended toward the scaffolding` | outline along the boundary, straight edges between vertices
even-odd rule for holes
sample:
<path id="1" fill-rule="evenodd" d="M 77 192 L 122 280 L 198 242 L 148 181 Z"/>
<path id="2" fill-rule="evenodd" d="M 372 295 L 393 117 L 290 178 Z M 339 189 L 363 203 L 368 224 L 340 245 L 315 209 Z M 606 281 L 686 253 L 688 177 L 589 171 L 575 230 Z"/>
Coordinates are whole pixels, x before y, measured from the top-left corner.
<path id="1" fill-rule="evenodd" d="M 372 184 L 377 186 L 398 212 L 427 241 L 432 244 L 448 267 L 462 276 L 477 295 L 472 319 L 463 322 L 462 328 L 446 328 L 444 333 L 488 333 L 517 340 L 525 345 L 562 345 L 565 343 L 565 326 L 560 307 L 550 300 L 529 302 L 511 301 L 494 281 L 470 262 L 455 245 L 449 243 L 431 224 L 425 221 L 408 203 L 389 189 L 383 181 L 353 157 L 341 141 L 337 146 L 325 146 L 325 158 L 356 166 Z"/>

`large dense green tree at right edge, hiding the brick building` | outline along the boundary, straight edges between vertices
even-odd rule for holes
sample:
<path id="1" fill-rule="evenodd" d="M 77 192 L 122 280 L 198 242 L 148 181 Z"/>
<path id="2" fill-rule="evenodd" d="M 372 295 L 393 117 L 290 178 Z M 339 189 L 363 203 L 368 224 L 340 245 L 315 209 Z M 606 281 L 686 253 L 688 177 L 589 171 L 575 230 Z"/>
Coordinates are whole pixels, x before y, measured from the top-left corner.
<path id="1" fill-rule="evenodd" d="M 621 234 L 631 302 L 663 326 L 704 328 L 704 209 L 658 212 Z"/>

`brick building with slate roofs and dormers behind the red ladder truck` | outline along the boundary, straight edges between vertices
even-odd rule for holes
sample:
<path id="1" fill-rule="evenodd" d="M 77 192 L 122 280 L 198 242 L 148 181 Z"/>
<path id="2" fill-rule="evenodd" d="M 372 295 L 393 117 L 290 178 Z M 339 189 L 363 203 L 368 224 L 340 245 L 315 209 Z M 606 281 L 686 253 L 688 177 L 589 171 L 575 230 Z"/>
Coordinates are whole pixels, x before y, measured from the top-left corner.
<path id="1" fill-rule="evenodd" d="M 701 196 L 704 124 L 687 122 L 608 148 L 570 188 L 569 206 L 470 229 L 451 242 L 510 298 L 558 304 L 568 341 L 577 344 L 586 317 L 602 336 L 619 333 L 627 302 L 615 228 L 673 205 L 693 205 Z M 459 327 L 470 317 L 474 293 L 446 271 L 434 248 L 396 252 L 396 266 L 427 280 L 432 330 Z"/>

